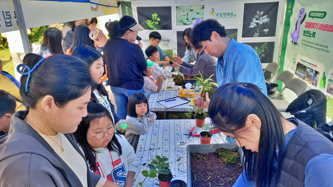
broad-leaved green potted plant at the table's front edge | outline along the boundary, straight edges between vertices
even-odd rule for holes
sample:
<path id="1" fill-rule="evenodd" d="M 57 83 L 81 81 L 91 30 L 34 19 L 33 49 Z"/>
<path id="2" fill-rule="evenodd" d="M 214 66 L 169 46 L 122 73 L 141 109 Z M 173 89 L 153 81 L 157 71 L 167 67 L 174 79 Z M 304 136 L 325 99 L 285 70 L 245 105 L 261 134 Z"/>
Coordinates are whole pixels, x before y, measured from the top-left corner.
<path id="1" fill-rule="evenodd" d="M 141 173 L 143 176 L 146 178 L 158 178 L 159 180 L 159 186 L 161 187 L 170 187 L 170 182 L 171 179 L 173 178 L 172 173 L 169 169 L 170 163 L 166 162 L 169 159 L 166 158 L 165 156 L 155 156 L 155 159 L 151 159 L 150 164 L 148 164 L 148 167 L 150 171 L 143 170 Z M 146 178 L 142 181 L 139 182 L 140 186 L 143 186 L 144 181 Z"/>

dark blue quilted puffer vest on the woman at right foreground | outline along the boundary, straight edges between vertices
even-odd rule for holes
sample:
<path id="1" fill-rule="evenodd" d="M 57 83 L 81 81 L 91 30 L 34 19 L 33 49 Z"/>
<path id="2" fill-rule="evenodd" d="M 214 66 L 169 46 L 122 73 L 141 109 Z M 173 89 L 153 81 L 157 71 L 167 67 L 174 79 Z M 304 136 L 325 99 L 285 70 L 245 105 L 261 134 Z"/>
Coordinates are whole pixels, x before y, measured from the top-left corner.
<path id="1" fill-rule="evenodd" d="M 333 155 L 333 143 L 304 122 L 288 120 L 298 128 L 287 144 L 278 186 L 304 186 L 307 163 L 320 154 Z"/>

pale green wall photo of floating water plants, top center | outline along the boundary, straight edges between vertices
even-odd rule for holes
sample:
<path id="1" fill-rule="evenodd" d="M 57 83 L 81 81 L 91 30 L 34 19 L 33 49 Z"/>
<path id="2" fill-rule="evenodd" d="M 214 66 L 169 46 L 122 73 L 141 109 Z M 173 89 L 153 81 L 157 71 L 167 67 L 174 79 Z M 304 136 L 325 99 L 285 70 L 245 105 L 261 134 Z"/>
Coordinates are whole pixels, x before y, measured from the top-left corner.
<path id="1" fill-rule="evenodd" d="M 204 5 L 176 6 L 176 25 L 193 25 L 199 18 L 204 19 Z"/>

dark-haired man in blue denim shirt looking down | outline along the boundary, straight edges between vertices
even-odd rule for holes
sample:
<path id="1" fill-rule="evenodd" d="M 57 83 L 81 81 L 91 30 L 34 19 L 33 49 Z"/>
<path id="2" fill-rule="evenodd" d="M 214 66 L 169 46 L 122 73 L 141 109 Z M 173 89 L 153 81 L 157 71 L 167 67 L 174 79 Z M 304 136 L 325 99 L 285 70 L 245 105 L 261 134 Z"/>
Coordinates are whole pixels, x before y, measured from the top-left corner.
<path id="1" fill-rule="evenodd" d="M 257 52 L 249 45 L 229 39 L 216 19 L 197 24 L 193 29 L 192 43 L 197 49 L 217 57 L 216 76 L 218 86 L 230 82 L 256 84 L 267 96 L 267 88 Z"/>

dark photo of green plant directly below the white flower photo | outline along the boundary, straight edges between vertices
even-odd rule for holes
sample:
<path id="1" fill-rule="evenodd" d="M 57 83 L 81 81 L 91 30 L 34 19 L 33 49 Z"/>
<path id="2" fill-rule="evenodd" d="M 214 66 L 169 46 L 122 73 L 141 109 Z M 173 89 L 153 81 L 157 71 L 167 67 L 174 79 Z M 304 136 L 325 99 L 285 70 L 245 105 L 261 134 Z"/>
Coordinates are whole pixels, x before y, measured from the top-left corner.
<path id="1" fill-rule="evenodd" d="M 271 63 L 274 59 L 275 42 L 251 42 L 245 43 L 257 52 L 261 63 Z"/>

